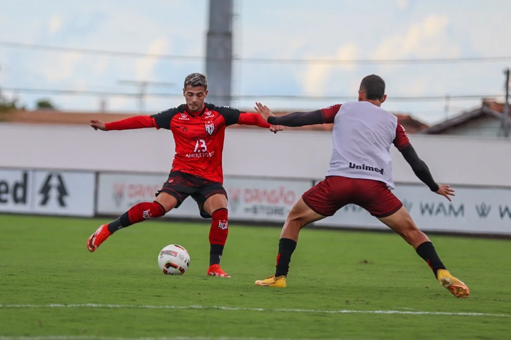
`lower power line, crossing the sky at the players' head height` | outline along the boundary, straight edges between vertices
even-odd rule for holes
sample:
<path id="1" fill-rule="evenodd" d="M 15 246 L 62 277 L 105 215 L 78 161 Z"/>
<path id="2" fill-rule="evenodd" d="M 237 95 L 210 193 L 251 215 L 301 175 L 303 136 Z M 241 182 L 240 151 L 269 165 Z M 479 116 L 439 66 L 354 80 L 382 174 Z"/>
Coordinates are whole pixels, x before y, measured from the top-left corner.
<path id="1" fill-rule="evenodd" d="M 72 90 L 72 89 L 47 89 L 47 88 L 14 88 L 3 87 L 2 90 L 16 93 L 36 93 L 36 94 L 55 94 L 55 95 L 90 95 L 90 96 L 120 96 L 139 98 L 140 93 L 131 92 L 111 92 L 111 91 L 95 91 L 95 90 Z M 146 93 L 147 97 L 165 97 L 165 98 L 181 98 L 182 93 Z M 484 95 L 484 94 L 460 94 L 450 95 L 449 100 L 470 100 L 483 98 L 500 98 L 501 94 Z M 294 100 L 294 101 L 353 101 L 357 98 L 350 95 L 339 96 L 307 96 L 307 95 L 282 95 L 282 94 L 242 94 L 234 95 L 231 98 L 235 100 Z M 387 101 L 445 101 L 445 95 L 426 95 L 426 96 L 389 96 Z"/>

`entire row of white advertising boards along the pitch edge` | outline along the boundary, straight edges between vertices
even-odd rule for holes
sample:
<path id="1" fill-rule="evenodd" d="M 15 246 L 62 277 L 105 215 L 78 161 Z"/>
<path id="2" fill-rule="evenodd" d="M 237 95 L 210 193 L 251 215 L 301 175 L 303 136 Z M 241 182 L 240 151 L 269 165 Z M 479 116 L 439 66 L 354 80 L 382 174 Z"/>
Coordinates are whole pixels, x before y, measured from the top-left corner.
<path id="1" fill-rule="evenodd" d="M 168 174 L 0 168 L 0 212 L 117 216 L 154 200 Z M 229 220 L 283 223 L 292 205 L 318 180 L 226 176 Z M 394 193 L 425 231 L 511 236 L 511 188 L 456 186 L 453 202 L 420 184 L 397 183 Z M 197 220 L 192 199 L 164 216 Z M 314 224 L 326 228 L 386 229 L 364 209 L 349 205 Z"/>

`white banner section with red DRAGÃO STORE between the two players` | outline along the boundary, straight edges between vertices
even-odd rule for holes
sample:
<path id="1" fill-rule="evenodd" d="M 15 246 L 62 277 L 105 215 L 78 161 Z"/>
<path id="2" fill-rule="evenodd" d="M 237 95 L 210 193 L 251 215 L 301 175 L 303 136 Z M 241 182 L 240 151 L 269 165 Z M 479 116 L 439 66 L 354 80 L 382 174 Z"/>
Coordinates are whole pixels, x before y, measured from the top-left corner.
<path id="1" fill-rule="evenodd" d="M 229 218 L 253 222 L 284 222 L 289 210 L 312 181 L 226 178 Z"/>

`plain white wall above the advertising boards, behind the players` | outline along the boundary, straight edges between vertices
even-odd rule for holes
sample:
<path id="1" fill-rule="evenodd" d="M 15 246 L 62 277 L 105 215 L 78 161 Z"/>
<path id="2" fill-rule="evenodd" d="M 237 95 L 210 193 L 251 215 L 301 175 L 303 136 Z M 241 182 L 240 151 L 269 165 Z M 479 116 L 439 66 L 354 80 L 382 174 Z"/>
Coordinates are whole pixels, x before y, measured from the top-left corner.
<path id="1" fill-rule="evenodd" d="M 417 153 L 440 183 L 510 186 L 511 143 L 496 139 L 411 135 Z M 326 132 L 227 129 L 224 173 L 321 179 L 328 167 Z M 167 130 L 94 131 L 88 126 L 0 124 L 0 167 L 169 172 L 174 155 Z M 396 182 L 417 183 L 392 148 Z"/>

